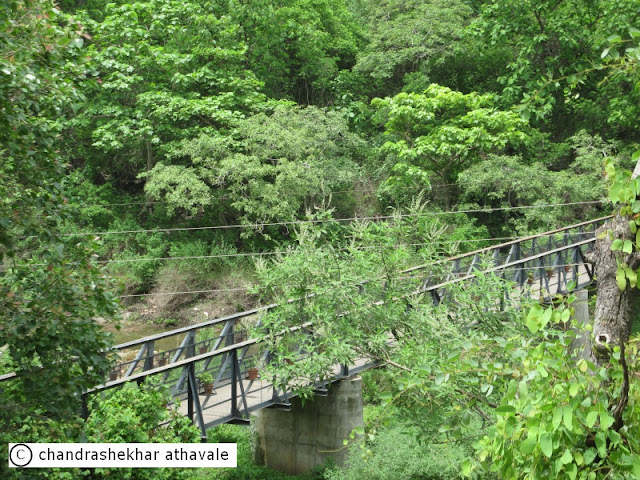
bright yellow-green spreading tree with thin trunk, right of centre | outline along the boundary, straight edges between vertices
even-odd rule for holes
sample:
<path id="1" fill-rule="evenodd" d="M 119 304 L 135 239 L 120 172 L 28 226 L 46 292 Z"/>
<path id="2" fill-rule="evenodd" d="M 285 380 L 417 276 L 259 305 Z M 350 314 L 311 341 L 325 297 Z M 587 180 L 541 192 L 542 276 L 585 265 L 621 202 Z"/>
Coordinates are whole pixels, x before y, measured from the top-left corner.
<path id="1" fill-rule="evenodd" d="M 405 184 L 428 188 L 431 178 L 443 184 L 443 203 L 450 208 L 450 184 L 458 174 L 490 153 L 508 153 L 525 144 L 527 124 L 516 113 L 496 108 L 493 97 L 462 94 L 430 85 L 424 94 L 400 93 L 374 99 L 379 123 L 389 140 L 391 189 Z"/>

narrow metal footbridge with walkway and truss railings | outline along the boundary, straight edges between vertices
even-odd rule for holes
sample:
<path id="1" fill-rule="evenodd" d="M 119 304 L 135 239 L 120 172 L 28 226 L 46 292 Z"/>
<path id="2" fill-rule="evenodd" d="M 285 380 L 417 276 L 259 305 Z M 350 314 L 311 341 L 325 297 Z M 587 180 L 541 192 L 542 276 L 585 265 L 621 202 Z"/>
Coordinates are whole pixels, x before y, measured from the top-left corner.
<path id="1" fill-rule="evenodd" d="M 570 282 L 577 290 L 594 281 L 593 267 L 585 263 L 585 252 L 595 241 L 595 230 L 610 217 L 602 217 L 564 228 L 522 237 L 488 248 L 446 258 L 405 270 L 423 298 L 434 304 L 446 302 L 449 288 L 459 282 L 474 282 L 479 272 L 505 280 L 504 298 L 497 306 L 517 301 L 523 292 L 541 301 L 566 292 Z M 266 305 L 195 325 L 177 328 L 113 347 L 121 360 L 109 379 L 85 392 L 83 399 L 129 382 L 163 385 L 173 402 L 201 430 L 224 423 L 247 424 L 252 412 L 266 408 L 289 410 L 296 396 L 293 388 L 278 389 L 269 378 L 256 372 L 257 365 L 272 361 L 269 351 L 249 338 L 248 325 L 259 326 L 265 314 L 278 305 Z M 311 329 L 306 324 L 295 328 Z M 158 351 L 160 340 L 175 339 L 176 348 Z M 166 342 L 163 342 L 166 344 Z M 318 396 L 326 396 L 329 385 L 377 366 L 361 358 L 351 365 L 335 365 L 330 378 L 309 385 Z M 199 380 L 204 373 L 213 378 L 212 393 L 205 393 Z M 0 382 L 15 378 L 0 376 Z M 344 437 L 343 437 L 344 438 Z"/>

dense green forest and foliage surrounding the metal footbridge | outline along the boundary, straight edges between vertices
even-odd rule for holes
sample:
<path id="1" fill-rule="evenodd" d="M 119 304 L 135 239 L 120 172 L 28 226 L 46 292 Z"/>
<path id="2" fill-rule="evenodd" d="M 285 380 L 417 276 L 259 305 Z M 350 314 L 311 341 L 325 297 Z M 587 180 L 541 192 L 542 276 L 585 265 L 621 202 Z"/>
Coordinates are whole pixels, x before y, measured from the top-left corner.
<path id="1" fill-rule="evenodd" d="M 504 285 L 483 276 L 455 313 L 373 306 L 459 252 L 614 211 L 635 235 L 639 61 L 633 0 L 2 2 L 0 372 L 19 374 L 0 387 L 2 443 L 197 441 L 185 419 L 155 428 L 153 390 L 81 418 L 113 362 L 103 324 L 312 295 L 265 323 L 323 325 L 310 372 L 349 345 L 389 364 L 364 377 L 365 439 L 316 478 L 640 478 L 635 337 L 576 364 L 552 328 L 573 295 L 492 313 Z M 225 428 L 212 441 L 248 450 Z M 5 455 L 3 478 L 27 478 Z"/>

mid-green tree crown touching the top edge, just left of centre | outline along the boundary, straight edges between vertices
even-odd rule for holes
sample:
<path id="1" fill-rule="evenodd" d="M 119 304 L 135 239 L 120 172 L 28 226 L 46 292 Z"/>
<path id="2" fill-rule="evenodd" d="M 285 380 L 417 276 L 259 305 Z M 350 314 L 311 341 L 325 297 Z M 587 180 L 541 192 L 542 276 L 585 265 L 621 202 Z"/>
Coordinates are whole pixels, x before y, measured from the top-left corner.
<path id="1" fill-rule="evenodd" d="M 247 42 L 248 68 L 270 97 L 301 105 L 333 100 L 329 86 L 353 65 L 361 43 L 350 2 L 262 0 L 234 6 L 230 13 Z"/>

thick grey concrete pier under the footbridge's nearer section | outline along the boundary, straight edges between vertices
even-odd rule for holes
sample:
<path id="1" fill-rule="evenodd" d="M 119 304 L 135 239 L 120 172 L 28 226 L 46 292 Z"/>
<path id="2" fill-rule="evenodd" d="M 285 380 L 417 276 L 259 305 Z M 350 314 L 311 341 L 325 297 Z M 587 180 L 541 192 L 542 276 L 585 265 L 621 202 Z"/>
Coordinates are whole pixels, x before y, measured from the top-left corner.
<path id="1" fill-rule="evenodd" d="M 296 397 L 290 411 L 265 408 L 253 415 L 254 461 L 290 475 L 306 473 L 328 458 L 343 465 L 343 440 L 363 425 L 362 379 L 344 379 L 331 386 L 329 395 L 304 407 Z"/>

